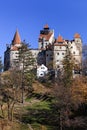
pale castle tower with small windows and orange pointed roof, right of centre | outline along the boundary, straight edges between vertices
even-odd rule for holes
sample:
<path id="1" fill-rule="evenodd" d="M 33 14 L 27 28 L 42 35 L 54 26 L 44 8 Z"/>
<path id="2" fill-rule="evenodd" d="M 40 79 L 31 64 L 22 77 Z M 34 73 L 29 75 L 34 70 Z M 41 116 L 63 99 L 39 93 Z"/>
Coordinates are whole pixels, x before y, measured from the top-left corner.
<path id="1" fill-rule="evenodd" d="M 63 37 L 59 35 L 54 43 L 53 67 L 56 70 L 62 69 L 62 61 L 66 55 L 67 44 Z"/>

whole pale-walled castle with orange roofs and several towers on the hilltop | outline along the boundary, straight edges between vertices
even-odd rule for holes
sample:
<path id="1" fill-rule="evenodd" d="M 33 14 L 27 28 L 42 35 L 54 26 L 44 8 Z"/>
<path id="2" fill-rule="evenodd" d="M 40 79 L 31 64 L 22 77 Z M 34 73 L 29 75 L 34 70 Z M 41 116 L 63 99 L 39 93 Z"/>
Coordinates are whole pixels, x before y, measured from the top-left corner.
<path id="1" fill-rule="evenodd" d="M 18 58 L 18 48 L 21 46 L 21 38 L 16 31 L 12 43 L 7 46 L 4 52 L 4 70 L 15 66 L 14 60 Z M 63 39 L 61 35 L 54 37 L 54 30 L 46 24 L 38 37 L 38 49 L 31 49 L 33 57 L 36 59 L 36 67 L 44 64 L 48 69 L 58 70 L 63 68 L 64 57 L 71 53 L 74 63 L 79 70 L 82 67 L 82 40 L 78 33 L 73 40 Z"/>

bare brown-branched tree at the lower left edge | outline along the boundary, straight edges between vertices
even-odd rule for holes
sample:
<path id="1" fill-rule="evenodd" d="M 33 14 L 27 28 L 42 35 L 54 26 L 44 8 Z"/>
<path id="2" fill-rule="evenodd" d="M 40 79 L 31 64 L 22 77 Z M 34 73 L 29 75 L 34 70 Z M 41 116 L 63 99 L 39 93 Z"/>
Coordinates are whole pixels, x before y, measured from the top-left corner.
<path id="1" fill-rule="evenodd" d="M 0 88 L 2 117 L 13 120 L 14 105 L 20 103 L 20 75 L 14 70 L 3 72 L 2 87 Z M 5 114 L 7 113 L 7 114 Z"/>

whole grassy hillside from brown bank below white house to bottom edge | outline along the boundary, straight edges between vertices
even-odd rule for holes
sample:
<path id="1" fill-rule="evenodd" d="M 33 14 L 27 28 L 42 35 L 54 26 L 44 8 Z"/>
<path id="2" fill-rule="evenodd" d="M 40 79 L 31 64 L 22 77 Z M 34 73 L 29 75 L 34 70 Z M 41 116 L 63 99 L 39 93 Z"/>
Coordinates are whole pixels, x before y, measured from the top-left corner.
<path id="1" fill-rule="evenodd" d="M 14 120 L 1 120 L 2 130 L 55 130 L 49 121 L 51 110 L 50 88 L 38 81 L 33 83 L 33 92 L 25 97 L 24 104 L 17 103 L 14 108 Z M 3 127 L 3 128 L 2 128 Z"/>

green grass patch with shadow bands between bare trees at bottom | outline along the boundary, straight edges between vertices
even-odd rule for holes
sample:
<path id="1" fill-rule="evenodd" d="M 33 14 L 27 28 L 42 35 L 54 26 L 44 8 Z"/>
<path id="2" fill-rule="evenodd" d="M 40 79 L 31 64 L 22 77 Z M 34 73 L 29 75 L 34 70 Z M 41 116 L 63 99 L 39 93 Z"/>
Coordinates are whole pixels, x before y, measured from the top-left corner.
<path id="1" fill-rule="evenodd" d="M 53 99 L 44 100 L 44 97 L 41 97 L 41 94 L 33 94 L 31 97 L 26 99 L 26 102 L 29 102 L 29 105 L 24 106 L 27 113 L 22 115 L 21 121 L 25 124 L 31 124 L 34 130 L 57 130 L 55 124 L 53 123 L 52 114 L 52 103 Z"/>

